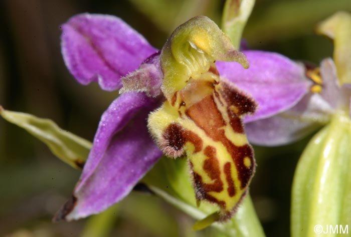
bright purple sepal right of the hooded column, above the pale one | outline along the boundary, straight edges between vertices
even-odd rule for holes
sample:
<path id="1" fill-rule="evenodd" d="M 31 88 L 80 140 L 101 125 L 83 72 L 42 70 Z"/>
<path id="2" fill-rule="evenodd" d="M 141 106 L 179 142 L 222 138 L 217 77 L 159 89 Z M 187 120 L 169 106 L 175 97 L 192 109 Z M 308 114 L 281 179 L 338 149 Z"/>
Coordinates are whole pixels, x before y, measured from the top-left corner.
<path id="1" fill-rule="evenodd" d="M 245 122 L 270 117 L 294 106 L 308 92 L 310 82 L 304 67 L 270 52 L 243 51 L 250 68 L 235 62 L 217 62 L 221 77 L 248 92 L 258 102 L 258 111 Z"/>

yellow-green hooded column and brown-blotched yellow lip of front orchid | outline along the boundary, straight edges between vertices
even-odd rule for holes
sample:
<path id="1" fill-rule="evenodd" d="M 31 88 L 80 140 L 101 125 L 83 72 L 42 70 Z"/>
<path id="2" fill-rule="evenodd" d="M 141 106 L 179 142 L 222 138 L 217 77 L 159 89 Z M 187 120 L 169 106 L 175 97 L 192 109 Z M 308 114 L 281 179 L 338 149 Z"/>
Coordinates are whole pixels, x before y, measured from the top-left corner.
<path id="1" fill-rule="evenodd" d="M 219 220 L 227 220 L 255 171 L 242 117 L 257 105 L 220 79 L 215 62 L 247 68 L 246 57 L 214 22 L 196 17 L 173 32 L 160 59 L 166 100 L 149 115 L 149 131 L 167 156 L 188 157 L 197 200 L 216 203 Z"/>

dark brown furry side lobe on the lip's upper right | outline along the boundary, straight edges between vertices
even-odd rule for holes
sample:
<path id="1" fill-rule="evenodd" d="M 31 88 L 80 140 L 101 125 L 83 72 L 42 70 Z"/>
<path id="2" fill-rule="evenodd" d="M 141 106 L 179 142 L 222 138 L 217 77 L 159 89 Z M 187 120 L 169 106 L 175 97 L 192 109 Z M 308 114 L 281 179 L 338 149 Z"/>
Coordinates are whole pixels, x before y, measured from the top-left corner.
<path id="1" fill-rule="evenodd" d="M 222 94 L 223 99 L 226 101 L 228 107 L 231 105 L 237 107 L 239 116 L 255 112 L 257 104 L 251 97 L 245 95 L 244 92 L 225 81 L 221 81 L 221 85 L 222 88 L 220 88 L 219 91 Z"/>

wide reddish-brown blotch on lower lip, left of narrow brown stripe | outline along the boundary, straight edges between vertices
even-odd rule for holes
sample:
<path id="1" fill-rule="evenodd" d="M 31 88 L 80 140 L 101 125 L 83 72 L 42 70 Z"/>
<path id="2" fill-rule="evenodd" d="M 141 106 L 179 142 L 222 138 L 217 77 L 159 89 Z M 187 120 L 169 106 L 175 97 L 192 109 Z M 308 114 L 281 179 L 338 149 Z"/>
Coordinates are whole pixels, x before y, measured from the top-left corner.
<path id="1" fill-rule="evenodd" d="M 205 192 L 221 192 L 223 190 L 223 182 L 221 180 L 221 169 L 218 158 L 216 156 L 216 148 L 207 146 L 204 154 L 208 157 L 204 161 L 204 170 L 209 177 L 214 181 L 212 184 L 205 184 L 203 187 Z"/>

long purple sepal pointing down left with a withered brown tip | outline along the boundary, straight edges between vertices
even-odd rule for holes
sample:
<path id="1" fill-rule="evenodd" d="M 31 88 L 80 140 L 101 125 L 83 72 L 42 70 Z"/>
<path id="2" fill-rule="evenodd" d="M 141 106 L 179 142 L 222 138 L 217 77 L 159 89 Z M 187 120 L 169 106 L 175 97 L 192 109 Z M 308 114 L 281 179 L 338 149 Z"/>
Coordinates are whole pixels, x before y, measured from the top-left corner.
<path id="1" fill-rule="evenodd" d="M 148 113 L 158 105 L 157 99 L 143 93 L 127 92 L 109 106 L 73 198 L 58 211 L 56 220 L 98 213 L 130 192 L 162 155 L 146 127 Z"/>

